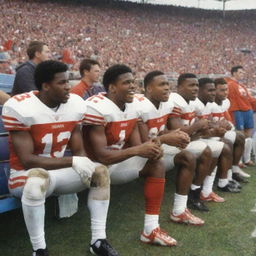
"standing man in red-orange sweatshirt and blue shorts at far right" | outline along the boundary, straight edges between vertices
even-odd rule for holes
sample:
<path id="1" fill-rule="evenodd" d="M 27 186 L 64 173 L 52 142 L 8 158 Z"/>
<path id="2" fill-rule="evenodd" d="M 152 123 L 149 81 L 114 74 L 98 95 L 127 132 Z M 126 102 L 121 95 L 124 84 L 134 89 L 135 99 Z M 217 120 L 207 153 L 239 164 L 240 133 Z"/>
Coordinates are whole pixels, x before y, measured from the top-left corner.
<path id="1" fill-rule="evenodd" d="M 231 69 L 231 78 L 227 78 L 228 98 L 230 100 L 229 112 L 234 120 L 236 129 L 242 131 L 246 137 L 244 149 L 244 163 L 253 165 L 251 161 L 252 129 L 253 129 L 253 99 L 246 87 L 241 84 L 245 71 L 242 66 L 234 66 Z"/>

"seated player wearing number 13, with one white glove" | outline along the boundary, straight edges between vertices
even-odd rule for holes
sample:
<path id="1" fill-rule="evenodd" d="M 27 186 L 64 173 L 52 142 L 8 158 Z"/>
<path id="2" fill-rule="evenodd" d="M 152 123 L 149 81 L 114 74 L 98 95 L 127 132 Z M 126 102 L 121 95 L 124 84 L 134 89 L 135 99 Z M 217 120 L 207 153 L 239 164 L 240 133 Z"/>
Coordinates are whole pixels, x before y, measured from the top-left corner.
<path id="1" fill-rule="evenodd" d="M 45 198 L 86 188 L 90 189 L 90 250 L 96 255 L 118 255 L 105 234 L 108 171 L 90 161 L 83 147 L 79 123 L 84 117 L 84 101 L 69 94 L 67 66 L 63 63 L 39 64 L 35 81 L 39 92 L 16 95 L 3 108 L 11 138 L 9 188 L 21 197 L 33 255 L 49 255 L 44 237 Z M 63 157 L 67 145 L 73 157 Z"/>

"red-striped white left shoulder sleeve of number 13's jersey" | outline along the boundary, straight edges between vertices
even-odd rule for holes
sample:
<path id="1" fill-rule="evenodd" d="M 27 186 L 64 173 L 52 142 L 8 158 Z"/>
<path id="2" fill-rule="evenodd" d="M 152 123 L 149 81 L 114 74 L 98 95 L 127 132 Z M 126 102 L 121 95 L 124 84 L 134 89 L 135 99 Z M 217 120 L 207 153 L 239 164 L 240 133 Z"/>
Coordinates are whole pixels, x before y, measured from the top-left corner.
<path id="1" fill-rule="evenodd" d="M 14 106 L 11 99 L 3 106 L 2 119 L 4 127 L 7 131 L 26 131 L 30 129 L 30 125 L 26 123 L 26 118 L 19 113 L 18 106 Z"/>

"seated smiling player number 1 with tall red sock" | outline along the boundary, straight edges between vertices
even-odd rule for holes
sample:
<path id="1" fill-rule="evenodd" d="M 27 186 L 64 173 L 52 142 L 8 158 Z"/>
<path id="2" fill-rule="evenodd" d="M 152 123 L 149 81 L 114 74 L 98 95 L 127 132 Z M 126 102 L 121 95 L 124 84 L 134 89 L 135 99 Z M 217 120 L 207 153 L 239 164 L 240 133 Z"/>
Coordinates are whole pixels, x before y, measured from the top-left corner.
<path id="1" fill-rule="evenodd" d="M 112 184 L 144 178 L 145 218 L 140 240 L 162 246 L 176 240 L 159 227 L 159 212 L 164 194 L 165 167 L 157 140 L 141 143 L 138 113 L 131 103 L 136 86 L 132 70 L 114 65 L 103 75 L 106 94 L 86 100 L 83 136 L 89 156 L 109 167 Z M 126 146 L 124 146 L 126 144 Z"/>

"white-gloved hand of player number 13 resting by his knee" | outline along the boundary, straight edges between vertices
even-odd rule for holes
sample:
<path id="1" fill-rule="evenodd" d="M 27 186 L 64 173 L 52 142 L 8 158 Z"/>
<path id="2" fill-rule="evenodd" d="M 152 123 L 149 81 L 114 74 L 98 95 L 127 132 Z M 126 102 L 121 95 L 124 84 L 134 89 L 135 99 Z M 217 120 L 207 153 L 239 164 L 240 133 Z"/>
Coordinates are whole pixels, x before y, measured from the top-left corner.
<path id="1" fill-rule="evenodd" d="M 96 165 L 86 156 L 73 156 L 72 167 L 79 174 L 81 181 L 89 185 Z"/>

